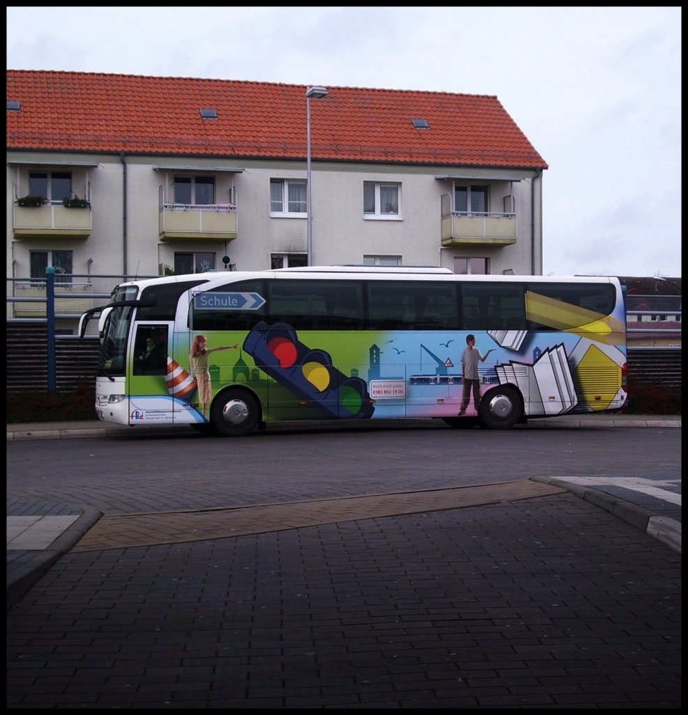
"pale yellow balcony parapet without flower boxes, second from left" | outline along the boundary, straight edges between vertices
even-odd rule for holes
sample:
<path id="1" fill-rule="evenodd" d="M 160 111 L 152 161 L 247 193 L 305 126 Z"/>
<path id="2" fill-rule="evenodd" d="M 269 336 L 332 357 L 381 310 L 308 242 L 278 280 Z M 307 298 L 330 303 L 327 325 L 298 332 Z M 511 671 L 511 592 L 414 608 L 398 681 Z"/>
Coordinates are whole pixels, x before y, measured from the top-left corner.
<path id="1" fill-rule="evenodd" d="M 234 204 L 162 204 L 161 240 L 233 241 L 236 238 Z"/>

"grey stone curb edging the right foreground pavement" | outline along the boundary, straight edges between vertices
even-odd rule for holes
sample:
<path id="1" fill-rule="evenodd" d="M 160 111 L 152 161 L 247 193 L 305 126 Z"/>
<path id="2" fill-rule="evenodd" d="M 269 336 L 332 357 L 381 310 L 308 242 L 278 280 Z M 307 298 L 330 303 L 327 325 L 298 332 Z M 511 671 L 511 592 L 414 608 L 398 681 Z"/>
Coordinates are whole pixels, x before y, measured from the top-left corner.
<path id="1" fill-rule="evenodd" d="M 624 501 L 599 489 L 594 489 L 581 484 L 574 484 L 563 479 L 548 477 L 531 477 L 534 482 L 542 482 L 555 487 L 561 487 L 575 494 L 583 501 L 588 501 L 608 511 L 622 521 L 644 531 L 662 541 L 673 551 L 681 553 L 681 522 L 668 516 L 658 516 L 642 506 Z"/>

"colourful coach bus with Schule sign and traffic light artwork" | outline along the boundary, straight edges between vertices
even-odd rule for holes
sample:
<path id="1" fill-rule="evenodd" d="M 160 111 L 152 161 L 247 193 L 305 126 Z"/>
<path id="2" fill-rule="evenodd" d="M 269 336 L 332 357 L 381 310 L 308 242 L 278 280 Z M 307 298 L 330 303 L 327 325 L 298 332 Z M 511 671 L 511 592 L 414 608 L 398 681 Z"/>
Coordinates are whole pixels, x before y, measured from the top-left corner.
<path id="1" fill-rule="evenodd" d="M 121 425 L 242 436 L 295 420 L 436 418 L 508 429 L 627 398 L 615 277 L 213 271 L 117 285 L 81 316 L 81 337 L 95 317 L 96 413 Z M 469 337 L 485 359 L 464 385 Z M 465 399 L 475 390 L 478 405 Z"/>

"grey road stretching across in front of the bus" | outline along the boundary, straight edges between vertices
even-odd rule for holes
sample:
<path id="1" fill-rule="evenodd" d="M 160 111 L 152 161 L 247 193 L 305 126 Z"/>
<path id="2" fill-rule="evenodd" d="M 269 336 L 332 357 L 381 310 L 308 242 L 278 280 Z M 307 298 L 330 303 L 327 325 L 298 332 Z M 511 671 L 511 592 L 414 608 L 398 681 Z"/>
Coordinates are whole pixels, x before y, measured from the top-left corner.
<path id="1" fill-rule="evenodd" d="M 7 443 L 7 497 L 104 514 L 251 506 L 531 477 L 680 483 L 681 430 L 354 428 Z"/>

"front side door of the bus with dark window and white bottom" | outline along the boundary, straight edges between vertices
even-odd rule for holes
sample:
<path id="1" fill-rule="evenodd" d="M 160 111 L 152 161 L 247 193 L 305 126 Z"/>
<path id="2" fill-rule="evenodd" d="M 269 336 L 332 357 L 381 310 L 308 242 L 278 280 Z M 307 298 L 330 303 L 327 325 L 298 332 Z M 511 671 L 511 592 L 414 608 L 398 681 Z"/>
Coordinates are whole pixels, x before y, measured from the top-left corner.
<path id="1" fill-rule="evenodd" d="M 171 424 L 174 400 L 168 390 L 168 355 L 173 323 L 134 322 L 129 342 L 127 381 L 129 424 Z"/>

